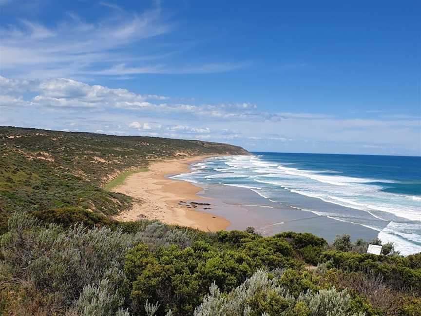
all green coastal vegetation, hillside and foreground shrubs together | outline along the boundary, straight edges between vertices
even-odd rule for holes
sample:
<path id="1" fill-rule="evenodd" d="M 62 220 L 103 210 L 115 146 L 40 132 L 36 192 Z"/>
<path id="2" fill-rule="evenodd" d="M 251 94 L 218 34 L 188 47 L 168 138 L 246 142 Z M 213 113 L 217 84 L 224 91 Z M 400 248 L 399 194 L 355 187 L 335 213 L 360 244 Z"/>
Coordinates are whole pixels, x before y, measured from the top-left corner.
<path id="1" fill-rule="evenodd" d="M 379 239 L 113 219 L 132 203 L 104 189 L 119 174 L 247 154 L 239 147 L 16 128 L 0 138 L 1 315 L 421 315 L 421 254 L 366 254 Z"/>

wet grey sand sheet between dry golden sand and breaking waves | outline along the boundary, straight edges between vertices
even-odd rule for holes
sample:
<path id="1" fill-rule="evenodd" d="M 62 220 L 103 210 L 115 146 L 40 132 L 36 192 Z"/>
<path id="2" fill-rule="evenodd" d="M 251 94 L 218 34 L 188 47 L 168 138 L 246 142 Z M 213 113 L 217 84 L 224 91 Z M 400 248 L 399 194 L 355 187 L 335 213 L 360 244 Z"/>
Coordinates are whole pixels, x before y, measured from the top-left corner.
<path id="1" fill-rule="evenodd" d="M 215 215 L 227 218 L 231 224 L 227 230 L 244 230 L 254 227 L 264 236 L 285 231 L 309 232 L 331 242 L 336 235 L 349 234 L 351 239 L 370 240 L 378 231 L 362 225 L 319 216 L 309 211 L 293 208 L 288 204 L 272 202 L 246 188 L 221 184 L 201 185 L 201 197 L 211 197 Z"/>

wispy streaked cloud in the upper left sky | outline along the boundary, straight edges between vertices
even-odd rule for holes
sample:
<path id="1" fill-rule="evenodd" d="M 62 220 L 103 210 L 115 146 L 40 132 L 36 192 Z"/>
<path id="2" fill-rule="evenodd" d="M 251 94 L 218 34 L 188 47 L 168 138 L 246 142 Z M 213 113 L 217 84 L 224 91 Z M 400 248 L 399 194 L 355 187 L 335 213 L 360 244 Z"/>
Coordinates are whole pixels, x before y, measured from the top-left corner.
<path id="1" fill-rule="evenodd" d="M 1 27 L 2 74 L 25 79 L 202 74 L 247 65 L 230 62 L 175 65 L 171 56 L 179 53 L 179 47 L 167 50 L 160 47 L 157 53 L 148 41 L 176 31 L 176 22 L 162 14 L 159 2 L 143 12 L 128 12 L 111 2 L 100 5 L 110 9 L 110 14 L 95 22 L 67 13 L 56 26 L 17 19 L 16 23 Z M 139 46 L 141 54 L 134 49 L 140 43 L 143 43 Z"/>

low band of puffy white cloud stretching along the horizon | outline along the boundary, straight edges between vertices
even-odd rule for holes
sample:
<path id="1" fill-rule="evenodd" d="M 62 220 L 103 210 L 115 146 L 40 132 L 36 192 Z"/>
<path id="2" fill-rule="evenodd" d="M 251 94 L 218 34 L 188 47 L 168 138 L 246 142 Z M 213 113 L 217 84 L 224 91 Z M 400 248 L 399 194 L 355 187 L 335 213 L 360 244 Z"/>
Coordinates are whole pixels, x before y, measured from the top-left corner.
<path id="1" fill-rule="evenodd" d="M 344 119 L 262 112 L 252 103 L 198 105 L 171 100 L 71 79 L 0 76 L 3 125 L 214 140 L 253 150 L 421 155 L 421 123 L 413 116 Z"/>

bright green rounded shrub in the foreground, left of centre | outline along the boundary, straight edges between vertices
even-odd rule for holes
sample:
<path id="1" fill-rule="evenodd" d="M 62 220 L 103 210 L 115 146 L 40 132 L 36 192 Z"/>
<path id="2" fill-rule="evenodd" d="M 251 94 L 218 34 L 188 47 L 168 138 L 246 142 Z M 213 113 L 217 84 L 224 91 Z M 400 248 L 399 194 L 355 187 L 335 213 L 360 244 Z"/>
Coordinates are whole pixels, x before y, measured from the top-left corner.
<path id="1" fill-rule="evenodd" d="M 174 315 L 188 315 L 212 282 L 230 290 L 251 275 L 251 267 L 244 253 L 220 251 L 200 241 L 185 249 L 169 246 L 155 251 L 140 243 L 126 255 L 124 271 L 135 313 L 149 300 L 160 302 L 157 315 L 170 309 Z"/>

